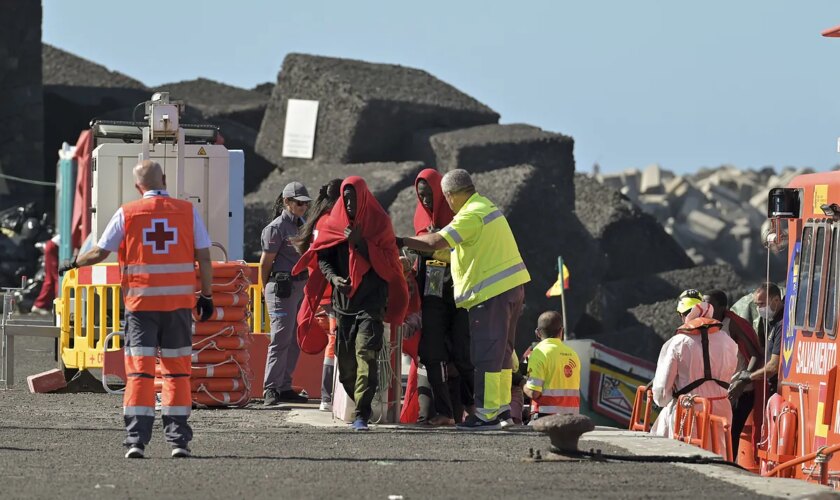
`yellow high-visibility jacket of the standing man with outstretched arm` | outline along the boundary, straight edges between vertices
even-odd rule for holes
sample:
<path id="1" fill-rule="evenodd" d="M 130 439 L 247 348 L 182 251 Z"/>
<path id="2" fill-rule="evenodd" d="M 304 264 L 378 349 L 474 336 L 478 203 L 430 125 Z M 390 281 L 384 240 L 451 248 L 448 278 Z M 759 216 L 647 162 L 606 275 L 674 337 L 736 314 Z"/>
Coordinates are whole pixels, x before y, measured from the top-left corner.
<path id="1" fill-rule="evenodd" d="M 455 304 L 469 309 L 531 281 L 507 219 L 473 194 L 440 235 L 454 248 Z"/>

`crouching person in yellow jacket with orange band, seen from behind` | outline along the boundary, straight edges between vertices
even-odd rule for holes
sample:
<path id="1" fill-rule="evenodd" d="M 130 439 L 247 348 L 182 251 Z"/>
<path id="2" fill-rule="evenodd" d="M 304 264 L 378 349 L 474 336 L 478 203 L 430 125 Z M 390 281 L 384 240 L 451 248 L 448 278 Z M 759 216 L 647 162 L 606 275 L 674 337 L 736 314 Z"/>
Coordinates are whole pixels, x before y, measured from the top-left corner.
<path id="1" fill-rule="evenodd" d="M 540 342 L 528 357 L 524 392 L 531 398 L 532 420 L 580 412 L 580 358 L 563 343 L 563 315 L 546 311 L 537 318 Z"/>

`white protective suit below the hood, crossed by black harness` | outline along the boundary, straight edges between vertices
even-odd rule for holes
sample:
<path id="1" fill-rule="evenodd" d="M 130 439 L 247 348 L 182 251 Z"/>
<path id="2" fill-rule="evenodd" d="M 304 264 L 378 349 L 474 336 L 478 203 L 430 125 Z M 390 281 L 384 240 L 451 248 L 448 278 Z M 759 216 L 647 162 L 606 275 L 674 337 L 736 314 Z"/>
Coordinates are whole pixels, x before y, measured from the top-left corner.
<path id="1" fill-rule="evenodd" d="M 709 360 L 712 378 L 729 382 L 738 366 L 738 344 L 723 330 L 709 334 Z M 699 334 L 678 333 L 665 342 L 659 352 L 652 387 L 653 401 L 662 407 L 662 412 L 653 423 L 651 434 L 674 437 L 680 425 L 674 420 L 677 403 L 674 392 L 695 380 L 702 379 L 703 374 L 703 345 Z M 714 399 L 712 413 L 725 418 L 727 423 L 732 424 L 732 407 L 726 398 L 725 388 L 708 381 L 691 393 L 695 396 Z M 696 410 L 699 411 L 700 408 L 697 407 Z M 717 449 L 724 449 L 725 440 L 725 433 L 719 433 Z"/>

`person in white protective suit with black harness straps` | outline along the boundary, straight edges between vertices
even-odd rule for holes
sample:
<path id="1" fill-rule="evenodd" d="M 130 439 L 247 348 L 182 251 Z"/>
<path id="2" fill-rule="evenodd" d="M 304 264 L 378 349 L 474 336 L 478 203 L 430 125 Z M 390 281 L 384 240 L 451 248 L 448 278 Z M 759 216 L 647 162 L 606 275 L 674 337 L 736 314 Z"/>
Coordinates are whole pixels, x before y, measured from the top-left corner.
<path id="1" fill-rule="evenodd" d="M 662 411 L 650 432 L 658 436 L 674 437 L 679 426 L 674 420 L 676 403 L 682 394 L 710 399 L 712 413 L 732 422 L 727 389 L 737 370 L 738 344 L 721 330 L 712 317 L 714 309 L 702 302 L 697 290 L 680 295 L 677 312 L 683 324 L 662 346 L 653 378 L 653 401 Z M 725 433 L 719 435 L 717 449 L 723 450 Z"/>

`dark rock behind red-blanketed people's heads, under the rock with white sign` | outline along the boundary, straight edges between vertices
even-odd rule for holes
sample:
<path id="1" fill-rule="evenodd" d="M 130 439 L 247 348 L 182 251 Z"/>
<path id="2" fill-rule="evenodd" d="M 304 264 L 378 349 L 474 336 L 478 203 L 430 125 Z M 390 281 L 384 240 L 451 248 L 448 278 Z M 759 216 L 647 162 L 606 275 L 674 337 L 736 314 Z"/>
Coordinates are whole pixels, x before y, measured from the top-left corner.
<path id="1" fill-rule="evenodd" d="M 414 179 L 423 164 L 404 163 L 356 163 L 350 165 L 324 164 L 307 165 L 274 171 L 260 184 L 259 189 L 245 197 L 245 258 L 251 261 L 259 257 L 259 238 L 263 227 L 271 220 L 274 200 L 283 187 L 292 181 L 302 182 L 313 199 L 318 189 L 332 179 L 344 179 L 358 175 L 365 179 L 371 193 L 385 210 L 394 202 L 397 193 L 414 185 Z"/>

